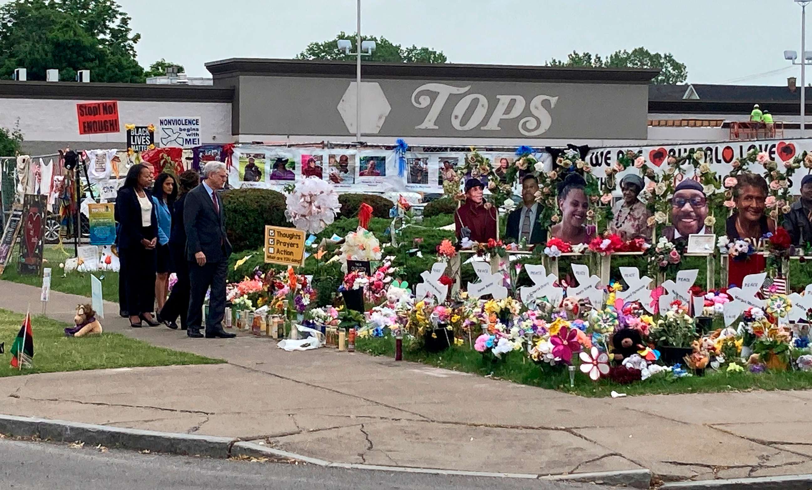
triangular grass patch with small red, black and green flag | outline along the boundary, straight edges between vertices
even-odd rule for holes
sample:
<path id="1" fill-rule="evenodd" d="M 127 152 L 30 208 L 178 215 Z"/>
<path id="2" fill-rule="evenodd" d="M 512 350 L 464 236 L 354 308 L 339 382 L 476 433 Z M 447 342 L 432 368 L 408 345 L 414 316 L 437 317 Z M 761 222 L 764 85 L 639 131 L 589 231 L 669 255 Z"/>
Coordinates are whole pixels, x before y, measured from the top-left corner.
<path id="1" fill-rule="evenodd" d="M 175 364 L 219 364 L 224 360 L 209 359 L 189 352 L 154 347 L 122 334 L 104 332 L 102 335 L 75 339 L 65 337 L 67 323 L 46 317 L 32 317 L 34 337 L 34 368 L 13 369 L 11 344 L 19 332 L 25 315 L 0 309 L 0 342 L 6 343 L 0 354 L 0 377 L 31 373 L 56 373 L 84 369 L 135 368 L 139 366 L 169 366 Z M 103 325 L 103 323 L 102 323 Z"/>

